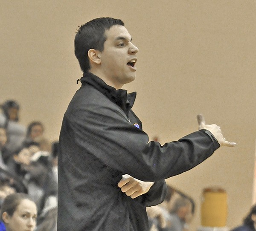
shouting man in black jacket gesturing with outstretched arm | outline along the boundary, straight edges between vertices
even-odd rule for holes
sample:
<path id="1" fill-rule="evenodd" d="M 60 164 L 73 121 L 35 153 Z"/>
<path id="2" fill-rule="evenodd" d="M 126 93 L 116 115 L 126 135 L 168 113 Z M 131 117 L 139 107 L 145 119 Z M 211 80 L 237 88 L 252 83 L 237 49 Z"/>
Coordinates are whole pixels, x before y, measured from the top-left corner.
<path id="1" fill-rule="evenodd" d="M 164 199 L 164 179 L 195 167 L 224 141 L 217 125 L 163 147 L 131 110 L 138 48 L 121 20 L 79 27 L 75 54 L 81 88 L 63 118 L 58 156 L 58 231 L 145 231 L 146 206 Z M 207 129 L 207 130 L 205 130 Z"/>

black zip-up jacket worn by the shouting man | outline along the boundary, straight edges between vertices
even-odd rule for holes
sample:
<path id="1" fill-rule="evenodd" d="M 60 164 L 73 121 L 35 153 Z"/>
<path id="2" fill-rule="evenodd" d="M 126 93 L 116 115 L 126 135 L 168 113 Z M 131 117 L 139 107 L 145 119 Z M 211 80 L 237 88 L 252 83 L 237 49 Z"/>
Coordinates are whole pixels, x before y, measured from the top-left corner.
<path id="1" fill-rule="evenodd" d="M 86 73 L 64 114 L 58 156 L 58 231 L 147 231 L 146 206 L 166 194 L 164 179 L 203 162 L 219 147 L 207 130 L 161 146 L 131 107 L 136 93 L 116 90 Z M 154 181 L 135 199 L 122 175 Z"/>

